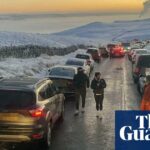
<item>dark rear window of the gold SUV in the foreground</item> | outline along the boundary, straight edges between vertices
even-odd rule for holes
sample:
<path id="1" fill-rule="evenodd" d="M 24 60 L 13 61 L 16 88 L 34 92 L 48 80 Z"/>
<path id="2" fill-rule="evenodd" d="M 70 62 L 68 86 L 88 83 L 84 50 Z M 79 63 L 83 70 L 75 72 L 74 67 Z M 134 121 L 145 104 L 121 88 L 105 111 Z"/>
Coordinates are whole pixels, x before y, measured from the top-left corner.
<path id="1" fill-rule="evenodd" d="M 35 102 L 36 96 L 34 92 L 0 90 L 0 108 L 27 108 L 35 104 Z"/>

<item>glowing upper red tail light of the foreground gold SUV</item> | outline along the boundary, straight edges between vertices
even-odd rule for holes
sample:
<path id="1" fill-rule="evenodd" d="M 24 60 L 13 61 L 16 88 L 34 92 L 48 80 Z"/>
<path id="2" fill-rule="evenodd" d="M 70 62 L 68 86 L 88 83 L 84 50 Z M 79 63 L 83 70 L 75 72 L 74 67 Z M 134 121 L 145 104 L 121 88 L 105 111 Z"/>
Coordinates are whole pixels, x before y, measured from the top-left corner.
<path id="1" fill-rule="evenodd" d="M 43 111 L 43 108 L 36 108 L 36 109 L 33 109 L 33 110 L 30 110 L 29 111 L 31 116 L 32 117 L 44 117 L 45 116 L 45 113 Z"/>

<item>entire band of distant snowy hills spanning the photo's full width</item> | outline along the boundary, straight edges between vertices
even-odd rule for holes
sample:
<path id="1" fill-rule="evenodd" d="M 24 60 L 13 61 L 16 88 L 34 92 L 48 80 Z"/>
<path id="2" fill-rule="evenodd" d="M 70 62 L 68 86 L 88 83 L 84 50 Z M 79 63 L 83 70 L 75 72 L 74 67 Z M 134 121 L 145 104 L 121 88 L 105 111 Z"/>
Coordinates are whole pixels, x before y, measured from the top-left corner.
<path id="1" fill-rule="evenodd" d="M 116 21 L 109 24 L 94 22 L 55 34 L 0 32 L 0 46 L 28 44 L 52 47 L 64 47 L 74 44 L 99 45 L 109 41 L 135 38 L 150 39 L 150 19 Z"/>

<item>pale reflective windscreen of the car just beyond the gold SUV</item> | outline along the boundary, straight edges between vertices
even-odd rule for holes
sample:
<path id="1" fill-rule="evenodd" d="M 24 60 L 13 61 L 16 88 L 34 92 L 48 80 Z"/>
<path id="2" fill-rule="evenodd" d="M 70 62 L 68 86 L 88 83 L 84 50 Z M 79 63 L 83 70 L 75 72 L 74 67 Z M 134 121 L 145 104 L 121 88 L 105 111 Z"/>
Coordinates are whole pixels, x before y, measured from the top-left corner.
<path id="1" fill-rule="evenodd" d="M 73 77 L 75 70 L 71 68 L 53 68 L 50 71 L 51 76 L 64 76 L 64 77 Z"/>

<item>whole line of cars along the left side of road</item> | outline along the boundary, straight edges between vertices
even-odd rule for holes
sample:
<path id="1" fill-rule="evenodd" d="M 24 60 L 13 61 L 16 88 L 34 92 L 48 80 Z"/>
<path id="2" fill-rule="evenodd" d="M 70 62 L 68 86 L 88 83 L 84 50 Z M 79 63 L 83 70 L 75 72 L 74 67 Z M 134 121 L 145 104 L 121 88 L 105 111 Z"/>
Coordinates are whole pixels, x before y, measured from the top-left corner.
<path id="1" fill-rule="evenodd" d="M 74 75 L 82 67 L 87 76 L 101 53 L 91 48 L 48 70 L 48 77 L 0 79 L 0 142 L 51 145 L 52 129 L 64 117 L 67 96 L 75 96 Z"/>

